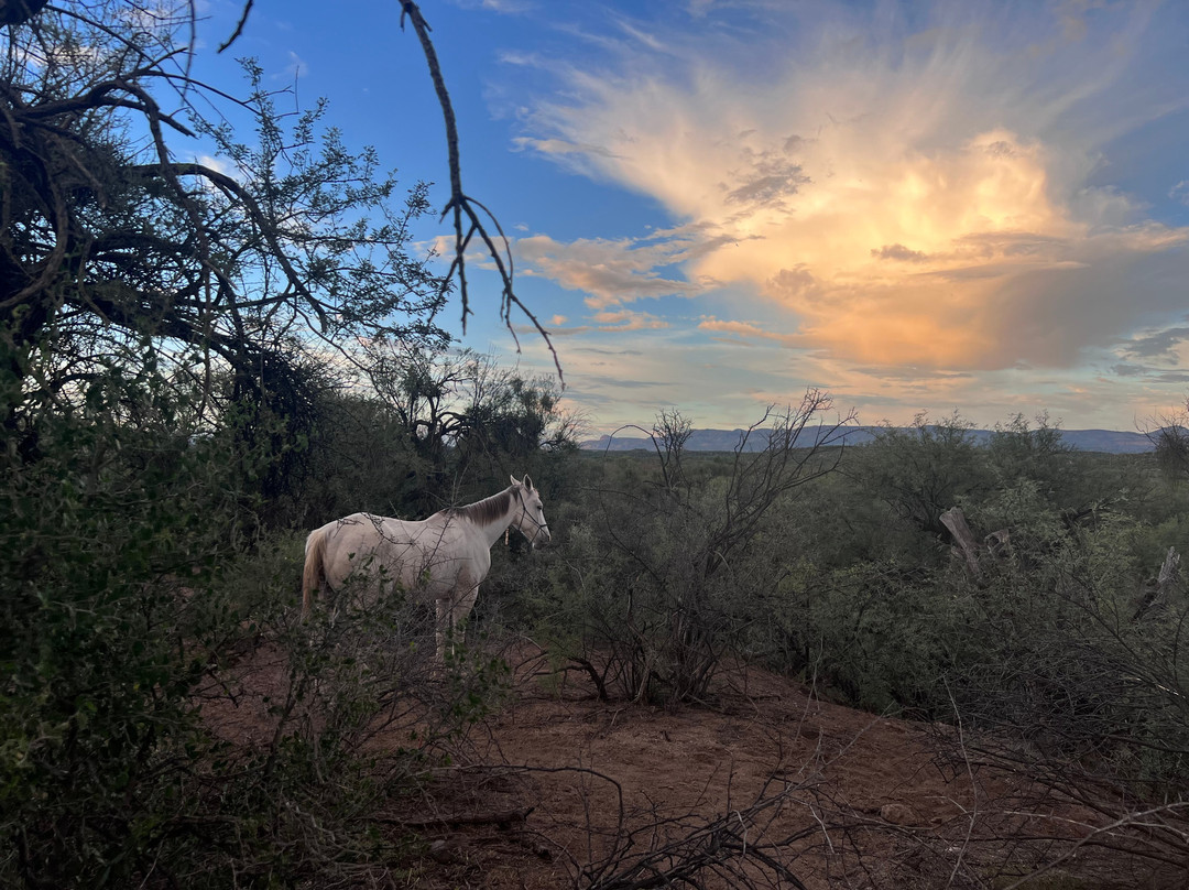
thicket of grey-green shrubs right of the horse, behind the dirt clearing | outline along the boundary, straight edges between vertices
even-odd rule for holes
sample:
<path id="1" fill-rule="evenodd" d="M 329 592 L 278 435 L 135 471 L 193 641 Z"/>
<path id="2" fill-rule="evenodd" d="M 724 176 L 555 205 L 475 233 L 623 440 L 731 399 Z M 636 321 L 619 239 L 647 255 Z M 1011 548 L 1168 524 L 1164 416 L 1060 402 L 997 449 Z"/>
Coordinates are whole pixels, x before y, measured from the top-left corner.
<path id="1" fill-rule="evenodd" d="M 754 658 L 822 695 L 993 732 L 1063 794 L 1114 789 L 1112 817 L 1183 807 L 1189 598 L 1168 551 L 1185 503 L 1150 456 L 1078 453 L 1044 415 L 983 445 L 921 418 L 749 525 L 728 500 L 738 456 L 682 452 L 682 428 L 658 421 L 653 460 L 592 462 L 535 594 L 560 668 L 604 696 L 705 701 L 726 659 Z M 976 541 L 995 533 L 977 575 L 938 521 L 956 503 Z M 1183 854 L 1176 836 L 1151 854 Z"/>

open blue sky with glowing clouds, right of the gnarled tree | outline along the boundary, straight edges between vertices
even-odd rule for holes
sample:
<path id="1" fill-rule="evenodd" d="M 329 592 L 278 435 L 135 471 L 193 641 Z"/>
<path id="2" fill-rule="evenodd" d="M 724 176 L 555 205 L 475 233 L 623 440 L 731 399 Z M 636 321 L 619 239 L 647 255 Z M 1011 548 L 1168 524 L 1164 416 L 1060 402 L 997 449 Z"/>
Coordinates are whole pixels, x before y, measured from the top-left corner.
<path id="1" fill-rule="evenodd" d="M 235 84 L 212 50 L 240 4 L 203 10 L 197 74 Z M 517 290 L 592 432 L 673 407 L 730 428 L 807 386 L 867 424 L 1048 410 L 1132 430 L 1184 402 L 1189 6 L 422 11 L 465 188 L 512 237 Z M 348 144 L 375 145 L 404 182 L 446 181 L 395 1 L 257 0 L 225 56 L 296 83 L 302 107 L 329 99 Z M 445 231 L 427 224 L 424 244 Z M 464 345 L 549 370 L 527 331 L 516 355 L 497 293 L 474 282 Z"/>

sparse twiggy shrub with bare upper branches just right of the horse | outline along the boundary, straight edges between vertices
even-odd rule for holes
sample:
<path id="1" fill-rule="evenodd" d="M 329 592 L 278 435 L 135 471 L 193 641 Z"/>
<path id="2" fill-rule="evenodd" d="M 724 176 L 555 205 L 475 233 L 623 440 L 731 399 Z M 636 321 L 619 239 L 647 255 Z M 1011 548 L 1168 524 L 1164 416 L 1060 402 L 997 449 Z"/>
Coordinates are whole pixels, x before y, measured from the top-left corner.
<path id="1" fill-rule="evenodd" d="M 816 428 L 830 407 L 811 390 L 800 406 L 769 412 L 743 434 L 724 472 L 687 460 L 687 425 L 662 414 L 656 462 L 617 462 L 615 478 L 590 494 L 585 518 L 570 531 L 568 578 L 559 577 L 568 596 L 556 626 L 577 639 L 571 654 L 600 695 L 703 700 L 724 657 L 747 651 L 781 571 L 765 529 L 841 457 L 832 446 L 845 421 Z M 749 453 L 753 437 L 763 447 Z"/>

